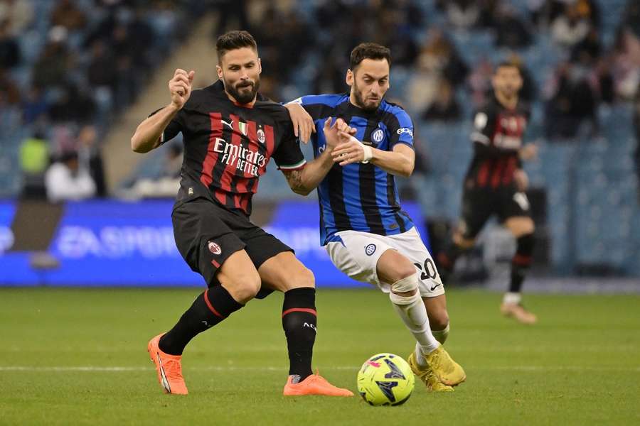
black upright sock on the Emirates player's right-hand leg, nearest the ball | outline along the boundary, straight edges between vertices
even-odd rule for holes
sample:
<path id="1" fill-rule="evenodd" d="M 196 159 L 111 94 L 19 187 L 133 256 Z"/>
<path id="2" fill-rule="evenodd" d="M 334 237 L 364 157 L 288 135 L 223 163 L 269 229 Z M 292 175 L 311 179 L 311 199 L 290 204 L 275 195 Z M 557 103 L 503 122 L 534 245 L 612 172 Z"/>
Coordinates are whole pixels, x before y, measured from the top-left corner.
<path id="1" fill-rule="evenodd" d="M 282 328 L 289 349 L 289 375 L 303 381 L 311 376 L 311 356 L 316 341 L 316 289 L 294 288 L 284 293 Z"/>

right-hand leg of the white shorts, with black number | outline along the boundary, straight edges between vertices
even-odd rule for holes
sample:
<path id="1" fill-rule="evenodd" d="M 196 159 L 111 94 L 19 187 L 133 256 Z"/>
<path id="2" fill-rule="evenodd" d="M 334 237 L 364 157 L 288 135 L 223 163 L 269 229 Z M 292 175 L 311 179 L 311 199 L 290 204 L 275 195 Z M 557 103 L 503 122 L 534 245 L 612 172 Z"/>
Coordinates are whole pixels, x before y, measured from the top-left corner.
<path id="1" fill-rule="evenodd" d="M 444 294 L 444 285 L 436 264 L 425 243 L 422 242 L 417 229 L 413 227 L 409 231 L 388 238 L 393 241 L 393 247 L 398 253 L 408 258 L 417 269 L 420 295 L 422 297 L 437 297 Z"/>

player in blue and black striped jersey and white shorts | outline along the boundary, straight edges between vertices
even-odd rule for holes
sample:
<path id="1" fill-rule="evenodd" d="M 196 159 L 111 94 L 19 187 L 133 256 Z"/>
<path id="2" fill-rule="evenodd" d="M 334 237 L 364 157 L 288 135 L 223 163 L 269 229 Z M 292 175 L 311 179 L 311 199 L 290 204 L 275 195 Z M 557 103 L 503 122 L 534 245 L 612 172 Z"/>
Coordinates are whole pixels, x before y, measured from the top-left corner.
<path id="1" fill-rule="evenodd" d="M 449 332 L 444 288 L 412 219 L 400 208 L 395 185 L 395 176 L 411 175 L 415 152 L 410 116 L 384 100 L 390 65 L 388 48 L 358 45 L 346 73 L 349 93 L 304 96 L 287 109 L 297 136 L 311 138 L 314 161 L 326 173 L 317 185 L 321 244 L 343 273 L 389 293 L 417 341 L 409 357 L 412 370 L 430 390 L 452 391 L 466 376 L 441 344 Z M 331 117 L 343 136 L 337 146 L 327 145 L 324 134 Z M 289 175 L 296 192 L 314 189 L 296 188 L 295 173 Z"/>

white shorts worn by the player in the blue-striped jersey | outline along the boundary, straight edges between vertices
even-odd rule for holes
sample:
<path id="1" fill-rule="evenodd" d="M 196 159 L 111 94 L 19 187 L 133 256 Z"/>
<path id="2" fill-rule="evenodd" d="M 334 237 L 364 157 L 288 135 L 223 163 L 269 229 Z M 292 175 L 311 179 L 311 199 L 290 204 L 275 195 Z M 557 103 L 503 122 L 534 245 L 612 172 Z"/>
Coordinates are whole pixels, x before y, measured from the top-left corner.
<path id="1" fill-rule="evenodd" d="M 336 268 L 356 281 L 378 285 L 389 293 L 392 283 L 383 283 L 378 278 L 378 259 L 387 250 L 395 250 L 407 256 L 415 265 L 420 281 L 422 297 L 436 297 L 444 294 L 444 285 L 431 257 L 420 239 L 415 226 L 409 231 L 396 235 L 377 235 L 361 231 L 336 232 L 341 241 L 326 244 L 326 251 Z"/>

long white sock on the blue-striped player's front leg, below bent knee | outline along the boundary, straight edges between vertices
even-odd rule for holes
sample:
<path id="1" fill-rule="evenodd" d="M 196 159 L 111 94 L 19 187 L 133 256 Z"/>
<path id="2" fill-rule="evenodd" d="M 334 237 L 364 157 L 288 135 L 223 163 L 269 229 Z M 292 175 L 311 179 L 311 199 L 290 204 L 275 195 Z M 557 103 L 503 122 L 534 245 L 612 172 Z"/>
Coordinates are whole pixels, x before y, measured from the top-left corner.
<path id="1" fill-rule="evenodd" d="M 413 334 L 422 352 L 430 354 L 437 349 L 440 344 L 431 332 L 427 308 L 425 308 L 420 294 L 416 292 L 412 296 L 400 296 L 390 293 L 389 298 L 393 303 L 395 312 L 398 312 L 402 322 Z"/>

